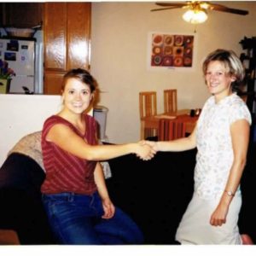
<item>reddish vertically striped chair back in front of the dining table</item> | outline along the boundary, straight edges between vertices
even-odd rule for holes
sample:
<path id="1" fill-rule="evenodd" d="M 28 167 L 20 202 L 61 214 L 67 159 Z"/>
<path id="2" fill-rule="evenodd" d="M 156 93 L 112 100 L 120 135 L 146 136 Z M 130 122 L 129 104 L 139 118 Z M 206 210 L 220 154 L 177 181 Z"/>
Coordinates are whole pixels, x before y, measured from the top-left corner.
<path id="1" fill-rule="evenodd" d="M 186 137 L 185 122 L 175 119 L 160 119 L 159 141 L 172 141 L 180 137 Z"/>

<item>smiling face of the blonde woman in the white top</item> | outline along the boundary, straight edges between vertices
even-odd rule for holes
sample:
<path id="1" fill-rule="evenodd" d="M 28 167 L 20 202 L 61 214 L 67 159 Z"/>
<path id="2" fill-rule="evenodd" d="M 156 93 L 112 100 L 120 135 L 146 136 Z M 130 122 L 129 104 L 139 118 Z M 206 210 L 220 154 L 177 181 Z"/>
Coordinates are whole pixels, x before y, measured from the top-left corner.
<path id="1" fill-rule="evenodd" d="M 231 83 L 236 78 L 230 75 L 222 61 L 210 61 L 207 65 L 205 80 L 209 92 L 215 96 L 218 102 L 232 93 Z"/>

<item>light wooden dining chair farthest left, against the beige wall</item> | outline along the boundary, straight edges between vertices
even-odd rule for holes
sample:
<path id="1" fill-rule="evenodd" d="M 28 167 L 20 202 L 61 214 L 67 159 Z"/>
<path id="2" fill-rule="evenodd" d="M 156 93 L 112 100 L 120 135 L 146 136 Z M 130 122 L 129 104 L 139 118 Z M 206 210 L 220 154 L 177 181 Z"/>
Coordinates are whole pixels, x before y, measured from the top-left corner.
<path id="1" fill-rule="evenodd" d="M 156 115 L 156 91 L 141 91 L 139 93 L 139 108 L 141 119 L 141 138 L 154 137 L 157 135 L 156 129 L 144 128 L 143 119 Z M 142 136 L 143 134 L 143 136 Z"/>

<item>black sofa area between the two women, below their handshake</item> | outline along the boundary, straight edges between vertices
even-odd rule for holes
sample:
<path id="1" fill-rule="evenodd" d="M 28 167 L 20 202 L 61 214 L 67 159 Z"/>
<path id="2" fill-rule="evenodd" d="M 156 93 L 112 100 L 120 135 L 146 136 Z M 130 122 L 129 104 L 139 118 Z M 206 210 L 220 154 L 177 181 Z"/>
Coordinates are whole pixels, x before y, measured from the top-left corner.
<path id="1" fill-rule="evenodd" d="M 175 244 L 177 224 L 193 192 L 195 150 L 158 153 L 153 160 L 128 155 L 109 161 L 113 201 L 134 218 L 146 244 Z"/>

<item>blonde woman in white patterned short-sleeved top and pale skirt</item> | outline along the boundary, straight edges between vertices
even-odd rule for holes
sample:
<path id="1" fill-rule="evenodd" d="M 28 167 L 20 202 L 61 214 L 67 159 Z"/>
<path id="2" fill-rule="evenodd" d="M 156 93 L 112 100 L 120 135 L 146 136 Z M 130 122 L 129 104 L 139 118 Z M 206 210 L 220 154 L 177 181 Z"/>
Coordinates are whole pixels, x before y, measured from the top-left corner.
<path id="1" fill-rule="evenodd" d="M 237 220 L 241 175 L 246 164 L 251 114 L 236 95 L 244 78 L 231 50 L 217 49 L 203 63 L 207 88 L 195 131 L 189 137 L 148 144 L 157 151 L 197 148 L 195 191 L 178 226 L 181 244 L 241 244 Z"/>

